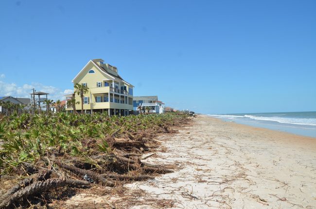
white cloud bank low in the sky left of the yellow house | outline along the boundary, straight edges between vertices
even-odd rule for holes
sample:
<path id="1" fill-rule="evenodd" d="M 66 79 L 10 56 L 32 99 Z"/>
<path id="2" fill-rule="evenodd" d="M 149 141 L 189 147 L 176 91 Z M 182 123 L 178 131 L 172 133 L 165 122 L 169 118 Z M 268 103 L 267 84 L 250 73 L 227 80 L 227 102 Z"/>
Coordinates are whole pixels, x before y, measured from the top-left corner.
<path id="1" fill-rule="evenodd" d="M 4 74 L 0 75 L 0 78 Z M 0 80 L 0 96 L 14 96 L 14 97 L 25 97 L 30 98 L 30 93 L 32 93 L 32 89 L 35 88 L 37 92 L 46 92 L 49 93 L 48 98 L 56 101 L 57 99 L 64 100 L 64 95 L 70 94 L 73 92 L 71 89 L 62 90 L 60 88 L 54 86 L 46 86 L 42 83 L 31 83 L 31 84 L 23 84 L 22 86 L 18 86 L 15 83 L 7 83 Z"/>

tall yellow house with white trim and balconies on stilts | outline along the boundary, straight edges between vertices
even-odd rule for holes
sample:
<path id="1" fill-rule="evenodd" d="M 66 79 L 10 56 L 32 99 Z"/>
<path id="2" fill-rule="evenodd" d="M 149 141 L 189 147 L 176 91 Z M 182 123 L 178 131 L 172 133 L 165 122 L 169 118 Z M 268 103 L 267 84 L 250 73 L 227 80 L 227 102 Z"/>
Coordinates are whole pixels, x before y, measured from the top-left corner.
<path id="1" fill-rule="evenodd" d="M 84 96 L 86 113 L 103 113 L 109 115 L 128 115 L 133 110 L 133 85 L 119 76 L 115 66 L 104 64 L 102 59 L 90 60 L 72 80 L 86 85 L 89 90 Z M 66 96 L 69 99 L 71 95 Z M 76 110 L 81 111 L 81 98 L 75 95 Z M 72 111 L 66 104 L 66 110 Z"/>

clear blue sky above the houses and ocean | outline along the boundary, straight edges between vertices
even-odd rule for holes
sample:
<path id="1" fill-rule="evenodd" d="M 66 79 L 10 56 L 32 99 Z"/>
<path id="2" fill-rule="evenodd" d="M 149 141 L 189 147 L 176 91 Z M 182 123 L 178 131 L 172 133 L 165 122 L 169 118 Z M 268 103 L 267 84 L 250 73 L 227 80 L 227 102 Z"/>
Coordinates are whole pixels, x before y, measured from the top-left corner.
<path id="1" fill-rule="evenodd" d="M 91 59 L 197 113 L 316 111 L 315 0 L 1 0 L 0 96 L 64 99 Z"/>

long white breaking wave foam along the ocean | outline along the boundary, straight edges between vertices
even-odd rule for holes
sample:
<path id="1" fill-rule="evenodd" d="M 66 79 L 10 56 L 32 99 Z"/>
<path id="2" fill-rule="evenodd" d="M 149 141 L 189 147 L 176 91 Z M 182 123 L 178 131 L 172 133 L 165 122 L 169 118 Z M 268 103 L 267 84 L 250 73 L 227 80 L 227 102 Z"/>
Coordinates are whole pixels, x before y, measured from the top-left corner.
<path id="1" fill-rule="evenodd" d="M 278 117 L 278 116 L 256 116 L 256 115 L 219 115 L 219 114 L 209 114 L 212 117 L 219 117 L 219 118 L 250 118 L 253 120 L 263 120 L 263 121 L 273 121 L 278 123 L 285 123 L 285 124 L 295 124 L 295 125 L 307 125 L 307 126 L 316 126 L 316 118 L 291 118 L 291 117 Z"/>

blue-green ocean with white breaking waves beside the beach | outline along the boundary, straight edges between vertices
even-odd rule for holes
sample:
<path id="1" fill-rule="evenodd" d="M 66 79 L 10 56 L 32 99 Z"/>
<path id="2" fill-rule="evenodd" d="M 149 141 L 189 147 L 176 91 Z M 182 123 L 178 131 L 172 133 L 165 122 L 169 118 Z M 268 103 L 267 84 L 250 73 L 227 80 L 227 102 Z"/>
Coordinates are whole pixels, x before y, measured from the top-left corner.
<path id="1" fill-rule="evenodd" d="M 316 112 L 209 114 L 209 116 L 316 138 Z"/>

